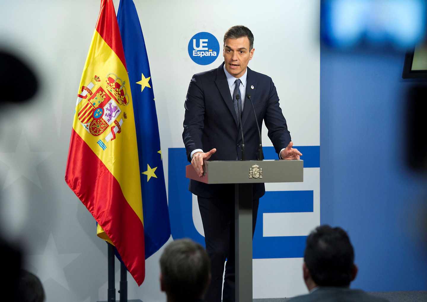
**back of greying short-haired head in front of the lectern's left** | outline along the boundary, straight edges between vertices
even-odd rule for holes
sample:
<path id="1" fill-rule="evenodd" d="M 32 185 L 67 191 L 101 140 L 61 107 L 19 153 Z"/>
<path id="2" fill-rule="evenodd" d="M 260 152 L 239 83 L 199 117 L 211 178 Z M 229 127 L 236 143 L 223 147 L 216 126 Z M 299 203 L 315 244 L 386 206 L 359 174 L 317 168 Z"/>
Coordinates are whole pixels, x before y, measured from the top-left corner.
<path id="1" fill-rule="evenodd" d="M 164 249 L 160 270 L 164 289 L 173 301 L 193 301 L 200 299 L 208 288 L 211 262 L 200 244 L 179 239 Z"/>

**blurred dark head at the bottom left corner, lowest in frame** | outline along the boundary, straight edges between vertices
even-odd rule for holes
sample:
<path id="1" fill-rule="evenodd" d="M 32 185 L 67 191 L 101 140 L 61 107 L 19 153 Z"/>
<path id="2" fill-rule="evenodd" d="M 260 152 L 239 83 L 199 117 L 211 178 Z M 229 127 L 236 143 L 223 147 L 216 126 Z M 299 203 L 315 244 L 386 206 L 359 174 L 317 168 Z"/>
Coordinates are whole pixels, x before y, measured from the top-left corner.
<path id="1" fill-rule="evenodd" d="M 40 279 L 26 270 L 20 271 L 18 291 L 20 302 L 44 302 L 46 299 Z"/>

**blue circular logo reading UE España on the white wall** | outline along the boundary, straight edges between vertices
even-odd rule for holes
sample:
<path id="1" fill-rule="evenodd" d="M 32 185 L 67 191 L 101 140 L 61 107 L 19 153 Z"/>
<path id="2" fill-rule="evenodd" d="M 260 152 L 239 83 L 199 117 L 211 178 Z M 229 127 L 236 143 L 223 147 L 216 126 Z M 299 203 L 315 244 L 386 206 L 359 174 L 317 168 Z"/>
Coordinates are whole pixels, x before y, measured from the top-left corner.
<path id="1" fill-rule="evenodd" d="M 209 32 L 199 32 L 188 42 L 188 54 L 199 65 L 211 64 L 219 55 L 219 43 Z"/>

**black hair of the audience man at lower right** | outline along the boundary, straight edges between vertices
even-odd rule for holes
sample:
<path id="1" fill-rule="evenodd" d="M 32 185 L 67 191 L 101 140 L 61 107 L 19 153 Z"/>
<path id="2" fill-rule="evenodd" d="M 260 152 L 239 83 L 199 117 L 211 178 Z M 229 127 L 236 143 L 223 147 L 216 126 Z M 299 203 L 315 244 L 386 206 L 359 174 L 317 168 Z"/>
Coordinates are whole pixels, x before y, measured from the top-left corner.
<path id="1" fill-rule="evenodd" d="M 317 285 L 350 285 L 354 266 L 354 250 L 350 238 L 340 227 L 317 227 L 307 237 L 304 262 Z"/>

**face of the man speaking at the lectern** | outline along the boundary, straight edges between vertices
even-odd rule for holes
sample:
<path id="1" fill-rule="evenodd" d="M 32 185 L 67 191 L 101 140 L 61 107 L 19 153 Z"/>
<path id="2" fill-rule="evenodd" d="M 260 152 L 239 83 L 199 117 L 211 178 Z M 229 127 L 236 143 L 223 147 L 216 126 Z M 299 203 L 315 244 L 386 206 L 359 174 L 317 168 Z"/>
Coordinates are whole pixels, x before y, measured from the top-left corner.
<path id="1" fill-rule="evenodd" d="M 240 78 L 245 73 L 249 61 L 252 60 L 254 51 L 254 48 L 249 51 L 249 39 L 246 36 L 226 39 L 222 52 L 225 69 L 235 78 Z"/>

